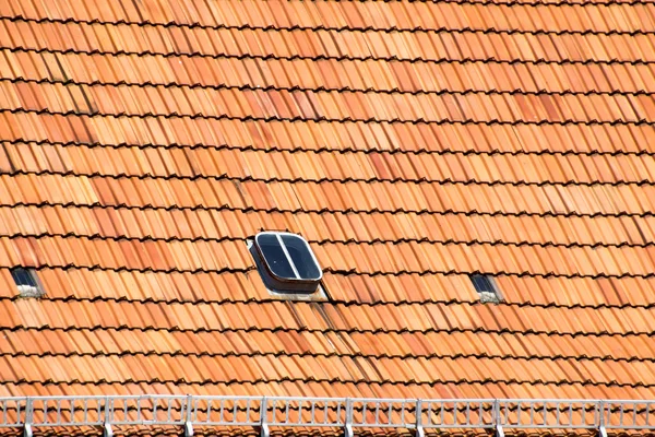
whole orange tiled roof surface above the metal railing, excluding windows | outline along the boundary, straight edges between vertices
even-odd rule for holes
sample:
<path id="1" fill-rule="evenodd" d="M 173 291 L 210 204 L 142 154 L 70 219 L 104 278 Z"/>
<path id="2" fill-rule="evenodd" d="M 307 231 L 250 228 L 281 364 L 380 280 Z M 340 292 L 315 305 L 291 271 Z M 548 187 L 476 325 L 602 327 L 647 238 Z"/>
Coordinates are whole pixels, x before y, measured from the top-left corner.
<path id="1" fill-rule="evenodd" d="M 655 398 L 652 1 L 0 0 L 0 395 Z"/>

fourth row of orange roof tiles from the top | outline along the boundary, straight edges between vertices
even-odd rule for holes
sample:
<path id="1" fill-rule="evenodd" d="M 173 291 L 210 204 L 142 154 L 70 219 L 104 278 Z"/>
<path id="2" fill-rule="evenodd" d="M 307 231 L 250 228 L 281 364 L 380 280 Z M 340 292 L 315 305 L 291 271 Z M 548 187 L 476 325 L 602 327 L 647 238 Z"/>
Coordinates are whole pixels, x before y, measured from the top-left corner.
<path id="1" fill-rule="evenodd" d="M 206 117 L 402 122 L 655 123 L 653 95 L 372 94 L 249 92 L 0 82 L 3 110 L 103 117 Z"/>

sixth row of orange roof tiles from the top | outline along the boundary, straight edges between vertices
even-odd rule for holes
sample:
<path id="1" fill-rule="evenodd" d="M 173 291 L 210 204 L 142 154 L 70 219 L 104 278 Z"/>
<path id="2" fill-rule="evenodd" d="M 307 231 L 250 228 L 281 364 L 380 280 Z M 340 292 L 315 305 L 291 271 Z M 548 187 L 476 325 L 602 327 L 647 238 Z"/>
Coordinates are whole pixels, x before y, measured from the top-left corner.
<path id="1" fill-rule="evenodd" d="M 59 174 L 179 179 L 230 179 L 288 182 L 451 182 L 537 186 L 648 185 L 655 172 L 644 155 L 583 154 L 401 154 L 315 153 L 277 150 L 210 147 L 60 146 L 33 142 L 2 142 L 0 174 Z M 156 161 L 148 160 L 156 152 Z M 52 153 L 57 160 L 32 160 Z M 139 167 L 120 163 L 140 162 Z M 160 163 L 167 163 L 166 166 Z M 311 162 L 311 166 L 296 163 Z M 489 172 L 489 168 L 504 169 Z M 507 169 L 512 169 L 508 172 Z M 584 169 L 584 172 L 580 172 Z"/>

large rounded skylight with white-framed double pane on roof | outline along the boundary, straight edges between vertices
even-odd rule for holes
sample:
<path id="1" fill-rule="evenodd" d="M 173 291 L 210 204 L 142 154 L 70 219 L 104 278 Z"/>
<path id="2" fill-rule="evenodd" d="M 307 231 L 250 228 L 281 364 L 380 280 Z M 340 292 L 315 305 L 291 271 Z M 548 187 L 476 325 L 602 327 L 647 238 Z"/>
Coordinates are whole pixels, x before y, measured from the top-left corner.
<path id="1" fill-rule="evenodd" d="M 283 232 L 254 236 L 251 252 L 266 287 L 278 293 L 314 293 L 323 272 L 307 240 Z"/>

